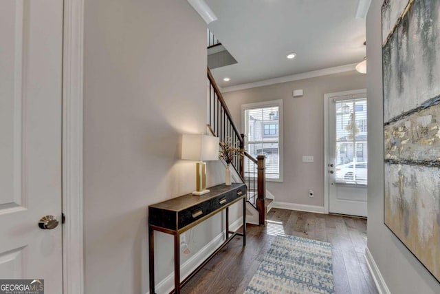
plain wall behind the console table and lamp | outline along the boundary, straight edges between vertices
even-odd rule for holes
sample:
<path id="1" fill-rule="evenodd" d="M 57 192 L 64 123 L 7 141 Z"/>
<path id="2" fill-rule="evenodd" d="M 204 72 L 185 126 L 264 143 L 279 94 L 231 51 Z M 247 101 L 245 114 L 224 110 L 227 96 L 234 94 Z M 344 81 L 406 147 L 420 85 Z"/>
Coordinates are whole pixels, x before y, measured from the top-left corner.
<path id="1" fill-rule="evenodd" d="M 146 293 L 148 204 L 195 188 L 179 141 L 206 132 L 206 24 L 183 0 L 85 1 L 84 85 L 85 291 Z M 208 165 L 208 185 L 224 182 Z M 221 220 L 192 229 L 193 252 Z M 156 241 L 157 283 L 173 271 L 173 242 Z"/>

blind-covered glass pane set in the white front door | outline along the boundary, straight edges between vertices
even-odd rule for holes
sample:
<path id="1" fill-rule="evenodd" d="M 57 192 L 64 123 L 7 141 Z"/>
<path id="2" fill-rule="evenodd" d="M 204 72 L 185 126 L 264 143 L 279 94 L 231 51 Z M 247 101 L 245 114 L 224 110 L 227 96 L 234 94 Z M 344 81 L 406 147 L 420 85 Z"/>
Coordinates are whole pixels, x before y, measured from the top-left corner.
<path id="1" fill-rule="evenodd" d="M 366 98 L 336 103 L 336 181 L 367 184 Z"/>

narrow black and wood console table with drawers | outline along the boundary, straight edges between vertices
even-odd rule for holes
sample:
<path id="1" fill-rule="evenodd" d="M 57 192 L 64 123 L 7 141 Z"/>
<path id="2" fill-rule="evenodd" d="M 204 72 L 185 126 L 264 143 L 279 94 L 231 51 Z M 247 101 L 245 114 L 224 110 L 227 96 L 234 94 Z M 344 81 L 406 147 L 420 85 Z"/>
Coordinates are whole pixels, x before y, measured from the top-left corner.
<path id="1" fill-rule="evenodd" d="M 199 270 L 207 264 L 223 246 L 228 244 L 236 235 L 243 236 L 243 246 L 246 245 L 246 185 L 234 183 L 208 188 L 210 193 L 202 196 L 187 194 L 148 207 L 148 245 L 150 258 L 150 293 L 155 293 L 154 281 L 154 231 L 174 235 L 174 291 L 180 293 L 184 286 Z M 229 231 L 229 207 L 243 201 L 243 233 Z M 195 271 L 180 282 L 180 234 L 188 231 L 196 224 L 214 216 L 225 209 L 226 211 L 226 240 L 203 261 Z"/>

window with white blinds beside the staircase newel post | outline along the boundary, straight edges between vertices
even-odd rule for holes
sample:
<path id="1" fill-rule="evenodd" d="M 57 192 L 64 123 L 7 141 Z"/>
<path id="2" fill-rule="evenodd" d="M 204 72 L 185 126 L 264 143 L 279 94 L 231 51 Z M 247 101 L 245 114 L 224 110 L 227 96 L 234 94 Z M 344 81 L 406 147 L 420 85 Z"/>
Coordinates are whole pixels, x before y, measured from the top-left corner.
<path id="1" fill-rule="evenodd" d="M 281 102 L 243 105 L 246 151 L 254 156 L 266 156 L 266 179 L 282 180 L 281 176 Z M 252 177 L 256 166 L 245 162 L 245 176 Z"/>

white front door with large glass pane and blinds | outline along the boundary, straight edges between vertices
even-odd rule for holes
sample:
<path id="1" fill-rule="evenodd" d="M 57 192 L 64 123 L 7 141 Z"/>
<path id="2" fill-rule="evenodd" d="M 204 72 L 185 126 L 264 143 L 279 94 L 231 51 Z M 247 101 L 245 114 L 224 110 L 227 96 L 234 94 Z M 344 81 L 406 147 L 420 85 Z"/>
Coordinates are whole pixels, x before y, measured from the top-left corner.
<path id="1" fill-rule="evenodd" d="M 330 94 L 328 103 L 329 212 L 366 216 L 366 92 Z"/>

